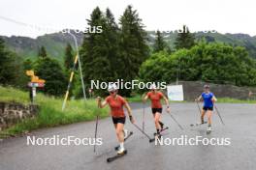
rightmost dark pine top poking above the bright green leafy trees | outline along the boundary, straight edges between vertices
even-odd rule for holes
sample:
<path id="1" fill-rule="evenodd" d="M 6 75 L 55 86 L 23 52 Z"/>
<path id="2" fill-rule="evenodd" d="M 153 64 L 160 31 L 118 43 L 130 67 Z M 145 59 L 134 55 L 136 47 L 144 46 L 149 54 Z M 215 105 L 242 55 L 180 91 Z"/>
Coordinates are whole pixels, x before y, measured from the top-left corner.
<path id="1" fill-rule="evenodd" d="M 188 27 L 183 25 L 182 30 L 180 30 L 181 33 L 177 34 L 176 38 L 176 50 L 180 48 L 191 48 L 195 45 L 195 36 L 194 34 L 190 33 L 188 30 Z"/>

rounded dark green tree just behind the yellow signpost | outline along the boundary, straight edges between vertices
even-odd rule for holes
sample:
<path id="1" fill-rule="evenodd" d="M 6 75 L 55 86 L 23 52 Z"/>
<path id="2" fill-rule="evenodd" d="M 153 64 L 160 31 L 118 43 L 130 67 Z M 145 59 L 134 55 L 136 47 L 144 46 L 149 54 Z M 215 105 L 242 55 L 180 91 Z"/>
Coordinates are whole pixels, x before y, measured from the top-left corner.
<path id="1" fill-rule="evenodd" d="M 59 63 L 48 57 L 39 58 L 35 63 L 35 72 L 46 80 L 43 91 L 48 95 L 62 96 L 65 93 L 67 79 Z"/>

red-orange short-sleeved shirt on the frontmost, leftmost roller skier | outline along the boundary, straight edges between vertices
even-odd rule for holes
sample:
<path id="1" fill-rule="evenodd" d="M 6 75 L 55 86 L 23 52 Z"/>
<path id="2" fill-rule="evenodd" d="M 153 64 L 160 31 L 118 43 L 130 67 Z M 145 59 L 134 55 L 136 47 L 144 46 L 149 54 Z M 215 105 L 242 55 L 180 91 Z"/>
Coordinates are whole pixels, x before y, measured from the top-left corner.
<path id="1" fill-rule="evenodd" d="M 111 107 L 112 117 L 125 117 L 123 111 L 123 105 L 127 102 L 125 99 L 117 95 L 115 99 L 112 96 L 107 97 L 106 101 L 109 103 Z"/>

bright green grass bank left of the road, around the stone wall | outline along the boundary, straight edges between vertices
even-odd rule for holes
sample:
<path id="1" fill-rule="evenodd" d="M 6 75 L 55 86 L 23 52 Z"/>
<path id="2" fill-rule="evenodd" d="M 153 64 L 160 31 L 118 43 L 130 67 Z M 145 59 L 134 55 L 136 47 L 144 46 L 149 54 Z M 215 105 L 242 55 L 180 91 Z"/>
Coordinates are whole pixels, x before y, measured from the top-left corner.
<path id="1" fill-rule="evenodd" d="M 0 86 L 0 94 L 0 101 L 29 103 L 28 92 Z M 38 115 L 33 119 L 23 120 L 13 127 L 4 129 L 0 132 L 0 137 L 4 134 L 21 134 L 37 128 L 49 128 L 82 121 L 92 121 L 97 114 L 101 118 L 109 116 L 108 108 L 99 109 L 94 99 L 86 101 L 82 99 L 68 100 L 64 111 L 61 110 L 62 102 L 63 99 L 37 94 L 36 103 L 40 106 Z"/>

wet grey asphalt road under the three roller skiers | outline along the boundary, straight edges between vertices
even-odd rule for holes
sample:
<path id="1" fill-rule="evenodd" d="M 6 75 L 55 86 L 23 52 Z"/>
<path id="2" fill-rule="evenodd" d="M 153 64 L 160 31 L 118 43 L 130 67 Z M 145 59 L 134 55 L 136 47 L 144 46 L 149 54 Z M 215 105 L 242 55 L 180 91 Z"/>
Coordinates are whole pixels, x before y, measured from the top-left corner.
<path id="1" fill-rule="evenodd" d="M 142 104 L 133 104 L 133 113 L 137 124 L 142 127 Z M 216 114 L 213 115 L 213 131 L 206 134 L 207 126 L 191 128 L 198 122 L 199 111 L 195 103 L 172 103 L 172 114 L 183 126 L 180 130 L 171 117 L 164 113 L 162 120 L 170 127 L 164 138 L 202 136 L 211 138 L 230 138 L 229 146 L 199 144 L 197 146 L 165 145 L 149 143 L 148 139 L 127 120 L 126 128 L 134 131 L 125 148 L 128 154 L 111 163 L 109 156 L 117 141 L 111 118 L 101 120 L 98 136 L 103 145 L 97 146 L 31 146 L 27 138 L 16 137 L 0 142 L 0 170 L 255 170 L 256 169 L 256 113 L 253 104 L 217 105 L 226 126 L 222 126 Z M 153 136 L 154 124 L 150 108 L 145 109 L 145 131 Z M 52 137 L 68 135 L 79 138 L 94 137 L 94 122 L 74 124 L 59 128 L 45 128 L 33 131 L 30 136 Z"/>

